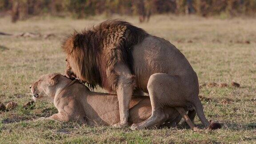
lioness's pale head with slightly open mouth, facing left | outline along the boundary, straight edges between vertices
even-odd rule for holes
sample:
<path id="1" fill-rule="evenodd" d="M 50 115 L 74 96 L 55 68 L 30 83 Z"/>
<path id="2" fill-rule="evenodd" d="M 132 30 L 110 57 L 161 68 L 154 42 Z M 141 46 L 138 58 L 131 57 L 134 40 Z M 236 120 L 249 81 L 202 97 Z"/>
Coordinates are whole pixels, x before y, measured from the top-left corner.
<path id="1" fill-rule="evenodd" d="M 53 100 L 56 93 L 56 84 L 62 76 L 59 73 L 52 73 L 40 76 L 35 83 L 30 86 L 33 100 L 48 99 Z"/>

